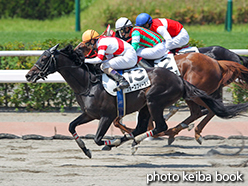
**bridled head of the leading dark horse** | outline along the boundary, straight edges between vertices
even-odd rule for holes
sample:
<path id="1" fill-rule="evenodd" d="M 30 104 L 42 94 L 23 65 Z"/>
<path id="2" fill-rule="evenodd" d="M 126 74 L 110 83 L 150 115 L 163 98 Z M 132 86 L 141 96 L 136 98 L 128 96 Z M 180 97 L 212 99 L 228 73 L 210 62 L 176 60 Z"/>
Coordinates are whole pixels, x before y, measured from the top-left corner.
<path id="1" fill-rule="evenodd" d="M 59 53 L 57 51 L 58 46 L 59 44 L 43 52 L 38 61 L 26 74 L 27 81 L 35 83 L 37 80 L 45 79 L 49 74 L 56 71 L 55 55 Z"/>

